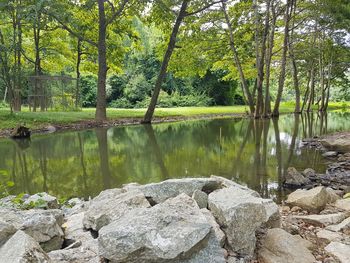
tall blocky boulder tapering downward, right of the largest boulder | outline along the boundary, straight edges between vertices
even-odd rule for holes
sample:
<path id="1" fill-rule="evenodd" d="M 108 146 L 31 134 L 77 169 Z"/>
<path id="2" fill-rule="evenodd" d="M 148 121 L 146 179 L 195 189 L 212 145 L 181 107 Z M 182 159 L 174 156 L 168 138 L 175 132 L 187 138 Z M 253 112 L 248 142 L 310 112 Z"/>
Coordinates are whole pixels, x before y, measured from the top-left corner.
<path id="1" fill-rule="evenodd" d="M 274 214 L 270 202 L 237 187 L 216 190 L 208 197 L 209 209 L 225 232 L 229 247 L 242 256 L 253 255 L 255 231 L 269 221 L 266 204 L 269 214 Z"/>

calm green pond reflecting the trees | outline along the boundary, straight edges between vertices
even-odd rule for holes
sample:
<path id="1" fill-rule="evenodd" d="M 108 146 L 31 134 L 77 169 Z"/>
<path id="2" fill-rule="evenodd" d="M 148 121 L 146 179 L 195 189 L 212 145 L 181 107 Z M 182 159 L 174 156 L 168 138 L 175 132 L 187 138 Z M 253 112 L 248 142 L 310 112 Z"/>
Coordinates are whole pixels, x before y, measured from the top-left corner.
<path id="1" fill-rule="evenodd" d="M 11 194 L 46 191 L 93 197 L 103 189 L 212 174 L 276 201 L 285 170 L 325 172 L 303 138 L 349 130 L 350 114 L 283 115 L 279 120 L 212 119 L 35 135 L 0 140 L 0 182 Z"/>

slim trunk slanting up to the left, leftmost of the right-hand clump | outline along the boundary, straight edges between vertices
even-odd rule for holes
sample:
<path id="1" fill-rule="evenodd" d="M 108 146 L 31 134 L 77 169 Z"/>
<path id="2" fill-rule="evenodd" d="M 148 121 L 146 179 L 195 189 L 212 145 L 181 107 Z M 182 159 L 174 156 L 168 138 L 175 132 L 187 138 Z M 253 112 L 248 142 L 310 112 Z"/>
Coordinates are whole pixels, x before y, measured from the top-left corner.
<path id="1" fill-rule="evenodd" d="M 226 24 L 227 24 L 228 30 L 229 30 L 230 48 L 231 48 L 231 51 L 233 53 L 233 59 L 234 59 L 235 65 L 236 65 L 236 67 L 238 69 L 238 72 L 239 72 L 239 77 L 240 77 L 240 81 L 241 81 L 241 84 L 242 84 L 243 93 L 244 93 L 244 95 L 246 97 L 246 100 L 248 101 L 250 114 L 254 114 L 254 111 L 255 111 L 254 101 L 253 101 L 252 94 L 249 91 L 247 80 L 245 78 L 245 75 L 244 75 L 244 72 L 243 72 L 243 68 L 242 68 L 242 65 L 241 65 L 241 61 L 239 59 L 238 52 L 237 52 L 237 49 L 236 49 L 236 46 L 235 46 L 235 40 L 234 40 L 234 37 L 233 37 L 232 24 L 230 22 L 230 18 L 228 17 L 228 14 L 227 14 L 225 1 L 221 1 L 221 3 L 222 3 L 222 11 L 223 11 L 223 13 L 225 15 Z"/>

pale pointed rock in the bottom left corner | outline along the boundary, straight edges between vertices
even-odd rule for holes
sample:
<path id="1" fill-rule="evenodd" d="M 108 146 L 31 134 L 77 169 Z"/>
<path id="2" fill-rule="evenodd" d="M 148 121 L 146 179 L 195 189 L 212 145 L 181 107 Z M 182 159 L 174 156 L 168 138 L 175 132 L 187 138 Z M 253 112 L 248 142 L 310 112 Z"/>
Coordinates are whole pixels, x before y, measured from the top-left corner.
<path id="1" fill-rule="evenodd" d="M 17 231 L 0 248 L 0 263 L 51 262 L 39 244 L 23 231 Z"/>

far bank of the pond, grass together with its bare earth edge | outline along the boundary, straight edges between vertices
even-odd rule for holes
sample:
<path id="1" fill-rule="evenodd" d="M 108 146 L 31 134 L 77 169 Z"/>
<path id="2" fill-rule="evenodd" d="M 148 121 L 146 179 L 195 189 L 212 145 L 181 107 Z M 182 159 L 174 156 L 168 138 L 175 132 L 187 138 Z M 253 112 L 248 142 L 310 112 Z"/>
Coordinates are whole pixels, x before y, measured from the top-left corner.
<path id="1" fill-rule="evenodd" d="M 331 104 L 329 110 L 347 110 L 350 104 Z M 281 104 L 281 113 L 292 113 L 294 105 Z M 94 127 L 111 127 L 117 125 L 138 124 L 146 109 L 107 109 L 108 121 L 96 123 L 95 109 L 87 108 L 79 112 L 22 112 L 10 114 L 8 109 L 0 109 L 0 137 L 11 134 L 18 125 L 29 127 L 33 133 L 51 132 L 53 130 L 81 130 Z M 205 119 L 221 117 L 246 116 L 247 106 L 217 106 L 217 107 L 180 107 L 157 108 L 154 122 L 170 122 L 188 119 Z"/>

